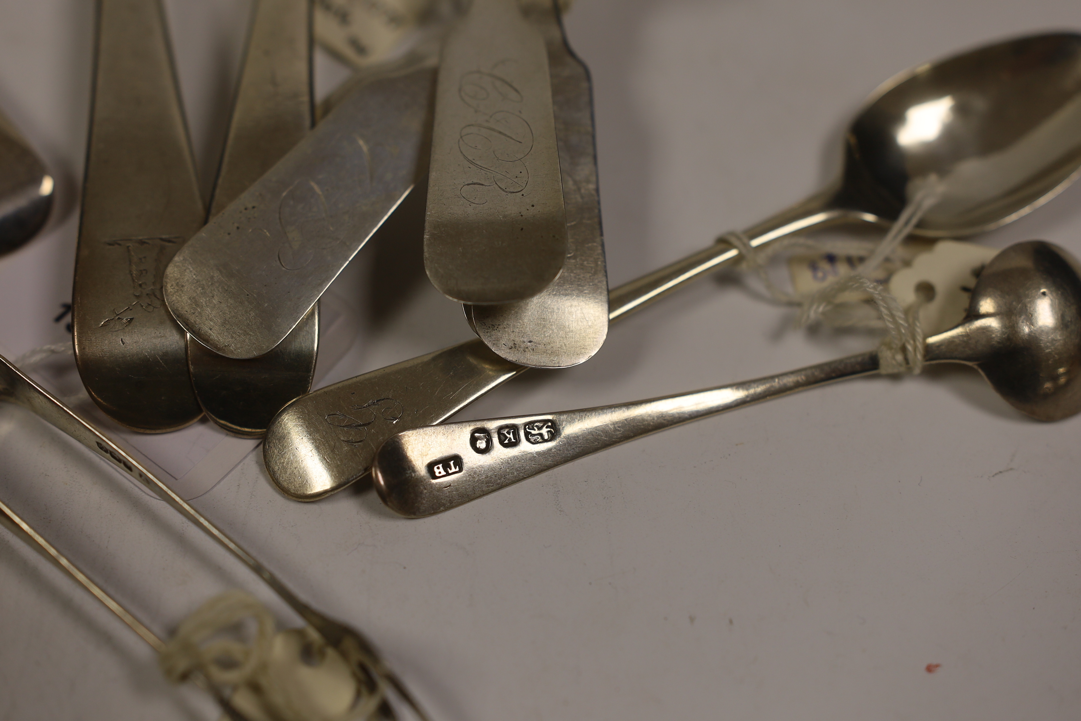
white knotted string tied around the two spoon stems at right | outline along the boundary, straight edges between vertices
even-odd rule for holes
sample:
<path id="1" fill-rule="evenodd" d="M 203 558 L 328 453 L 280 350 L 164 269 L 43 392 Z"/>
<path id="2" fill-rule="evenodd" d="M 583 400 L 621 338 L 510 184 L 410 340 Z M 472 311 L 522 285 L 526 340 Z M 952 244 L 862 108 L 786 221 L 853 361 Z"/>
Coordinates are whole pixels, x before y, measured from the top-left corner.
<path id="1" fill-rule="evenodd" d="M 772 241 L 763 249 L 757 249 L 739 231 L 728 232 L 719 240 L 728 242 L 739 251 L 743 256 L 743 268 L 759 277 L 771 298 L 785 305 L 800 306 L 796 317 L 796 328 L 817 322 L 825 322 L 835 328 L 883 328 L 886 335 L 878 348 L 879 372 L 918 374 L 923 370 L 925 350 L 919 311 L 926 301 L 918 297 L 907 309 L 902 308 L 900 303 L 885 285 L 871 280 L 869 276 L 886 261 L 897 263 L 904 259 L 900 242 L 940 197 L 942 184 L 932 177 L 916 191 L 890 231 L 878 243 L 785 238 Z M 766 264 L 771 257 L 791 250 L 844 255 L 863 255 L 870 252 L 851 273 L 837 278 L 813 293 L 798 295 L 782 290 L 766 272 Z M 865 310 L 867 305 L 864 303 L 850 304 L 838 301 L 840 296 L 854 291 L 870 296 L 877 313 L 869 316 Z"/>

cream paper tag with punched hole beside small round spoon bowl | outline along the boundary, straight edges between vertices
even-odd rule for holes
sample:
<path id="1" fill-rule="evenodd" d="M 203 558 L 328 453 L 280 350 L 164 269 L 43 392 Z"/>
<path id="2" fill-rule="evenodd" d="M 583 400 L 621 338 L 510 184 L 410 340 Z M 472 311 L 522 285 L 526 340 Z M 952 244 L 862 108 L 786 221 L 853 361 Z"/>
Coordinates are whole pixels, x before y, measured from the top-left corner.
<path id="1" fill-rule="evenodd" d="M 918 256 L 912 265 L 903 268 L 890 279 L 890 292 L 900 307 L 907 308 L 918 295 L 934 298 L 920 308 L 920 324 L 924 335 L 934 335 L 953 328 L 969 309 L 969 297 L 976 278 L 999 251 L 986 245 L 959 240 L 939 240 L 929 252 Z M 921 289 L 927 283 L 929 289 Z"/>

